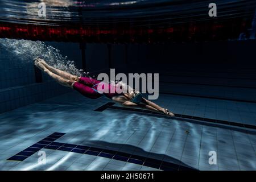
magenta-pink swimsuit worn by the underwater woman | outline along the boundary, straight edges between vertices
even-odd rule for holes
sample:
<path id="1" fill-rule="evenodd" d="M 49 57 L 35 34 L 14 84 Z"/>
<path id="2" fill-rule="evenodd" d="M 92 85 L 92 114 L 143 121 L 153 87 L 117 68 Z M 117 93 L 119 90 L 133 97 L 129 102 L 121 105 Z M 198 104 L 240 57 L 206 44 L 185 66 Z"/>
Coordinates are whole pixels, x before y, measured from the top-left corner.
<path id="1" fill-rule="evenodd" d="M 89 77 L 81 77 L 79 81 L 75 82 L 73 84 L 73 89 L 77 90 L 79 93 L 81 93 L 83 96 L 88 98 L 100 98 L 101 96 L 105 95 L 106 97 L 112 99 L 114 96 L 121 95 L 120 93 L 116 92 L 116 88 L 114 84 L 104 84 L 102 85 L 102 89 L 104 89 L 104 86 L 108 86 L 109 93 L 100 93 L 98 92 L 98 84 L 100 84 L 101 81 L 95 80 L 93 78 Z M 115 93 L 110 93 L 110 89 L 114 89 Z"/>

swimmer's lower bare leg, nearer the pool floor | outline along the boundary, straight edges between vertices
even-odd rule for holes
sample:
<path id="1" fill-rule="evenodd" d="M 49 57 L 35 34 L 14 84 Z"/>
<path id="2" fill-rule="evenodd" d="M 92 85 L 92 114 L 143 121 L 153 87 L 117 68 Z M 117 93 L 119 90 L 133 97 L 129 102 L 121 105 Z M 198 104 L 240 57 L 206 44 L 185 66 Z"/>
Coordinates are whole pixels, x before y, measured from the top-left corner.
<path id="1" fill-rule="evenodd" d="M 61 84 L 63 86 L 68 86 L 68 87 L 72 88 L 73 84 L 75 84 L 75 82 L 76 82 L 75 80 L 68 80 L 59 75 L 56 75 L 55 73 L 52 73 L 51 71 L 49 71 L 49 69 L 44 67 L 44 65 L 42 63 L 35 63 L 35 65 L 36 65 L 36 67 L 41 69 L 43 72 L 47 73 L 50 77 L 52 77 L 55 81 L 59 82 L 59 84 Z"/>

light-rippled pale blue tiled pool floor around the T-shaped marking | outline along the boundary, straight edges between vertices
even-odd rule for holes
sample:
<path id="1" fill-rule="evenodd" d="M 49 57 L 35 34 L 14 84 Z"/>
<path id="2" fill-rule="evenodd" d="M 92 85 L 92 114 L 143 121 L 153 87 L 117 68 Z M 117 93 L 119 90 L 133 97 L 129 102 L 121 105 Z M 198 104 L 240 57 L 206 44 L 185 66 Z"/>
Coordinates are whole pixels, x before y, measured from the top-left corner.
<path id="1" fill-rule="evenodd" d="M 108 102 L 70 92 L 0 114 L 0 169 L 256 170 L 256 130 L 130 110 L 94 111 Z M 50 142 L 26 152 L 47 137 Z M 216 153 L 216 164 L 209 163 L 209 153 Z"/>

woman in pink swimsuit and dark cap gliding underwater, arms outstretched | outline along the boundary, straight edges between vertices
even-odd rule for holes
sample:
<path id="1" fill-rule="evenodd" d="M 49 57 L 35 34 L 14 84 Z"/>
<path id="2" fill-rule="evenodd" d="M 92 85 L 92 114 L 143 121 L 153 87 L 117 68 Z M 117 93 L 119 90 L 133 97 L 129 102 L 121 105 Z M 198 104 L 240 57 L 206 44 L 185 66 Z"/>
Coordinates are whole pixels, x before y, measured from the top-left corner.
<path id="1" fill-rule="evenodd" d="M 174 114 L 168 111 L 168 109 L 164 109 L 163 107 L 156 105 L 154 102 L 148 101 L 146 100 L 146 98 L 143 98 L 142 94 L 138 91 L 131 90 L 128 93 L 101 93 L 98 92 L 100 90 L 98 87 L 101 81 L 89 77 L 78 77 L 75 75 L 71 75 L 70 73 L 51 67 L 46 63 L 46 61 L 39 58 L 35 59 L 35 65 L 43 72 L 51 76 L 54 80 L 59 82 L 59 84 L 73 88 L 85 97 L 95 99 L 100 98 L 104 95 L 111 100 L 125 106 L 144 107 L 149 110 L 159 111 L 160 113 L 174 116 Z M 115 84 L 104 84 L 103 87 L 104 86 L 108 86 L 109 90 L 113 88 L 114 90 L 116 90 Z"/>

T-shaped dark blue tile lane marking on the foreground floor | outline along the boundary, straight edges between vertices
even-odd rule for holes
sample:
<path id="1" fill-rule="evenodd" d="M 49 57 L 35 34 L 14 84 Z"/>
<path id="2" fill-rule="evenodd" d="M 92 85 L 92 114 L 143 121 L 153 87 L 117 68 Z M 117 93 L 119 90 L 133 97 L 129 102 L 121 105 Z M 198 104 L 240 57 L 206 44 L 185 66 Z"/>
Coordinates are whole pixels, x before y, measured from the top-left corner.
<path id="1" fill-rule="evenodd" d="M 191 167 L 185 167 L 178 164 L 164 162 L 162 160 L 146 158 L 143 156 L 138 155 L 131 155 L 125 152 L 117 152 L 113 150 L 105 150 L 102 148 L 97 147 L 89 147 L 89 146 L 81 146 L 76 144 L 69 144 L 69 143 L 60 143 L 54 142 L 56 139 L 63 136 L 64 133 L 53 133 L 48 137 L 40 140 L 39 142 L 32 144 L 32 146 L 27 147 L 23 151 L 19 152 L 18 154 L 12 156 L 7 160 L 15 160 L 15 161 L 23 161 L 27 159 L 29 156 L 35 154 L 35 152 L 47 148 L 51 150 L 60 150 L 60 151 L 67 151 L 67 152 L 75 152 L 79 154 L 87 154 L 87 155 L 94 155 L 94 156 L 101 156 L 103 158 L 115 159 L 123 162 L 139 164 L 142 166 L 152 167 L 156 169 L 161 169 L 164 171 L 178 171 L 178 170 L 196 170 Z M 56 137 L 54 137 L 56 136 Z M 45 141 L 48 138 L 55 138 L 55 140 Z"/>

